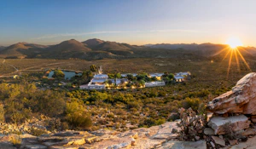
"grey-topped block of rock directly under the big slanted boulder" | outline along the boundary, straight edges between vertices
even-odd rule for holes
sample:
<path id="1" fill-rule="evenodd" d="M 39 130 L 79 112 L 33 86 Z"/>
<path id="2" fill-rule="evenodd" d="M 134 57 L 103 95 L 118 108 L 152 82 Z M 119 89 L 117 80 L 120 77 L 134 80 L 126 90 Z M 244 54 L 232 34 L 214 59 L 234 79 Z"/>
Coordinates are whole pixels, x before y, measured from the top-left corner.
<path id="1" fill-rule="evenodd" d="M 208 126 L 214 130 L 215 135 L 224 135 L 225 129 L 224 124 L 231 123 L 231 129 L 233 131 L 249 128 L 250 121 L 248 117 L 244 115 L 233 116 L 233 117 L 212 117 L 208 123 Z"/>

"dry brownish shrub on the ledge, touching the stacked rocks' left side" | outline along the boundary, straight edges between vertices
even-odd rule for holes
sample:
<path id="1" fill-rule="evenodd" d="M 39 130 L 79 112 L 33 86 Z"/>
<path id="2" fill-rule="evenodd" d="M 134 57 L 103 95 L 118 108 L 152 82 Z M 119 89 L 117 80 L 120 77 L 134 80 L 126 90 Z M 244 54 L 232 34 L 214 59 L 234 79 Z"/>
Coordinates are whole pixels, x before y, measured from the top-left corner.
<path id="1" fill-rule="evenodd" d="M 177 126 L 181 128 L 180 139 L 181 140 L 195 140 L 196 135 L 201 135 L 205 125 L 207 123 L 204 115 L 196 115 L 196 113 L 189 108 L 179 109 L 181 122 L 177 123 Z"/>

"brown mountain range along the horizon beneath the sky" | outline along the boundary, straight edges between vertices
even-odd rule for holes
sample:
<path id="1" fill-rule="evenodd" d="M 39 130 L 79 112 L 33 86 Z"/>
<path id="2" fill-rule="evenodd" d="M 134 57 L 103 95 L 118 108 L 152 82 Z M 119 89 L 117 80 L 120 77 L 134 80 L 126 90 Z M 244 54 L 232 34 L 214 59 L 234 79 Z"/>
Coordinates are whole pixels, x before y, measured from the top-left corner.
<path id="1" fill-rule="evenodd" d="M 101 39 L 89 39 L 79 42 L 75 39 L 55 45 L 33 43 L 15 43 L 9 47 L 0 46 L 1 58 L 40 58 L 40 59 L 125 59 L 125 58 L 204 58 L 218 55 L 222 49 L 229 49 L 226 44 L 146 44 L 143 46 L 128 43 L 116 43 Z M 240 47 L 242 54 L 256 55 L 254 47 Z"/>

